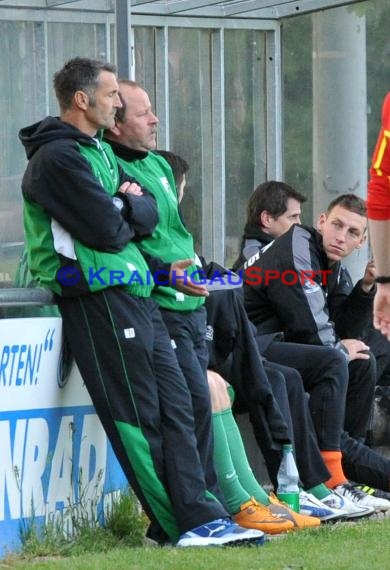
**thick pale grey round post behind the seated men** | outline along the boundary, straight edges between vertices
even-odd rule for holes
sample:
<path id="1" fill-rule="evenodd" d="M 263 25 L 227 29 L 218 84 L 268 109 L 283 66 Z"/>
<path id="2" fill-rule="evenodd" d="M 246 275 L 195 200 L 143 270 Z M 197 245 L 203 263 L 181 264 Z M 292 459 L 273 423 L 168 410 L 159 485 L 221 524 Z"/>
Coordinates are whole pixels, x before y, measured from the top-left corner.
<path id="1" fill-rule="evenodd" d="M 365 198 L 367 95 L 365 18 L 347 8 L 313 15 L 314 220 L 339 194 Z M 366 249 L 346 265 L 362 277 Z"/>

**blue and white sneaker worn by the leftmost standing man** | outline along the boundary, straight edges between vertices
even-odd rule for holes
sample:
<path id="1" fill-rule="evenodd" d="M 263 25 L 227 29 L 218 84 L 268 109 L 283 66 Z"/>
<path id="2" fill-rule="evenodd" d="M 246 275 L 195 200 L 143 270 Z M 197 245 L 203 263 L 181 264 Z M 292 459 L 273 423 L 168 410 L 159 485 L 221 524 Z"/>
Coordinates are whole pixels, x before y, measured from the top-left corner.
<path id="1" fill-rule="evenodd" d="M 242 528 L 230 519 L 215 519 L 182 534 L 176 546 L 242 546 L 260 545 L 264 532 Z"/>

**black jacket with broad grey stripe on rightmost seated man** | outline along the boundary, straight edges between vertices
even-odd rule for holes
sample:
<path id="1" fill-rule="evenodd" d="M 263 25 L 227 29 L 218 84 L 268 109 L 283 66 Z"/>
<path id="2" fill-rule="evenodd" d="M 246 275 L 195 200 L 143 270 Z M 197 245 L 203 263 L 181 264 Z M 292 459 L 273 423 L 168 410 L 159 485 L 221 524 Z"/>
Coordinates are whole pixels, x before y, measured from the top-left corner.
<path id="1" fill-rule="evenodd" d="M 282 331 L 286 341 L 333 346 L 344 353 L 340 338 L 361 336 L 373 294 L 365 294 L 360 282 L 353 287 L 340 263 L 329 266 L 313 227 L 292 226 L 248 265 L 245 307 L 259 334 Z M 266 283 L 270 271 L 280 277 Z M 307 271 L 310 279 L 304 277 Z"/>

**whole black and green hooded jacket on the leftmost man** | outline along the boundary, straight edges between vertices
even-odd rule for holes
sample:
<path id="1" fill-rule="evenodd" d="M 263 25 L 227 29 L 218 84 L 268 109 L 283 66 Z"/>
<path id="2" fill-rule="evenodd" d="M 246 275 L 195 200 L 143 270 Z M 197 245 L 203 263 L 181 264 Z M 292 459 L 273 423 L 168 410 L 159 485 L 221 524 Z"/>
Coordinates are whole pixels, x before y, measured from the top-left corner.
<path id="1" fill-rule="evenodd" d="M 29 159 L 22 192 L 34 278 L 57 294 L 74 296 L 90 290 L 86 274 L 91 267 L 129 271 L 131 262 L 145 271 L 145 260 L 132 242 L 150 235 L 156 226 L 155 199 L 145 188 L 142 196 L 118 192 L 123 182 L 136 180 L 118 167 L 99 135 L 91 137 L 65 121 L 46 117 L 21 129 L 19 138 Z M 150 261 L 161 266 L 160 260 Z M 72 287 L 59 277 L 64 267 L 81 276 Z M 136 294 L 147 295 L 146 287 Z"/>

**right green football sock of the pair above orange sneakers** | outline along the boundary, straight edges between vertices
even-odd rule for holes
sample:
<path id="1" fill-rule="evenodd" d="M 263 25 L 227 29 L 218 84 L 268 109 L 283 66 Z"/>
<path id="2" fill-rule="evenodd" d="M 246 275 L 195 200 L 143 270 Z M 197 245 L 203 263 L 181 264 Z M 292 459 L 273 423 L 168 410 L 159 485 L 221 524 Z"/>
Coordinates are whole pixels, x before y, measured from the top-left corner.
<path id="1" fill-rule="evenodd" d="M 244 443 L 241 437 L 241 432 L 236 420 L 234 419 L 231 408 L 221 412 L 221 418 L 225 428 L 227 443 L 230 449 L 230 456 L 232 458 L 232 462 L 236 469 L 241 485 L 250 497 L 254 497 L 256 501 L 262 505 L 268 505 L 268 495 L 260 483 L 257 481 L 256 477 L 253 474 L 252 468 L 249 465 L 248 457 L 246 455 Z"/>

